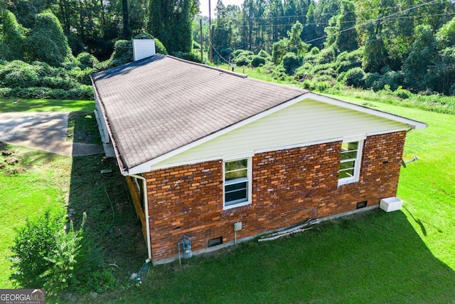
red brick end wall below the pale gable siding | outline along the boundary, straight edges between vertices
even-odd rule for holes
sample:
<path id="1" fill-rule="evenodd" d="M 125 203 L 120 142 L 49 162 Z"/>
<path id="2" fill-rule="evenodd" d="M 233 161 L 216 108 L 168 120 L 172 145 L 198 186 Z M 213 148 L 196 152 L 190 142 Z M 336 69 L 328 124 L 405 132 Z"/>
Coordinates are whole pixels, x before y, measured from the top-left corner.
<path id="1" fill-rule="evenodd" d="M 352 211 L 360 201 L 395 196 L 406 132 L 364 141 L 359 182 L 338 187 L 341 142 L 265 152 L 252 157 L 252 204 L 223 211 L 223 161 L 146 174 L 154 261 L 176 256 L 184 234 L 193 250 L 209 239 L 234 240 Z"/>

